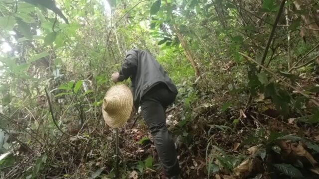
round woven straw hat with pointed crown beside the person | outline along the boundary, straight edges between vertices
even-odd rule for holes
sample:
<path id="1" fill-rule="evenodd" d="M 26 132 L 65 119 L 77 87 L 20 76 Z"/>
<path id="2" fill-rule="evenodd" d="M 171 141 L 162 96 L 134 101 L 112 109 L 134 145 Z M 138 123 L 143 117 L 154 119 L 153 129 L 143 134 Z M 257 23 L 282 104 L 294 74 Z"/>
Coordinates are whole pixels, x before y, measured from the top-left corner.
<path id="1" fill-rule="evenodd" d="M 102 112 L 107 125 L 122 127 L 129 119 L 133 109 L 133 95 L 126 85 L 110 88 L 103 99 Z"/>

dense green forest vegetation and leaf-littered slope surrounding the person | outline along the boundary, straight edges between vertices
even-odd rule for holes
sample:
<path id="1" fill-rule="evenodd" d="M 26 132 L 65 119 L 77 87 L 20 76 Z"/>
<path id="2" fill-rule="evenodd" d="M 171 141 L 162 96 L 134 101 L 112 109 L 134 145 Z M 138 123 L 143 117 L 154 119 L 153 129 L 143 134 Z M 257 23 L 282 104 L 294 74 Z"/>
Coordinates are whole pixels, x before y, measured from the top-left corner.
<path id="1" fill-rule="evenodd" d="M 185 179 L 319 178 L 318 0 L 0 0 L 0 178 L 116 178 L 101 103 L 132 48 L 178 88 Z M 162 179 L 136 117 L 119 178 Z"/>

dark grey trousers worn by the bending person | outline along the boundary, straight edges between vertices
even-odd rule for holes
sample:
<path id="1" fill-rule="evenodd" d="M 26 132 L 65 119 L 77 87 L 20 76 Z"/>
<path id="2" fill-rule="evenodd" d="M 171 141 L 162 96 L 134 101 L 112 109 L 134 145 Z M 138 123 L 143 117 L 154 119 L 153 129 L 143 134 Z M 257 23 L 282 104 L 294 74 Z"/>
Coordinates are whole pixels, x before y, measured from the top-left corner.
<path id="1" fill-rule="evenodd" d="M 166 177 L 179 175 L 180 169 L 174 142 L 166 127 L 165 108 L 175 100 L 176 94 L 165 84 L 159 84 L 143 95 L 143 118 L 151 130 Z"/>

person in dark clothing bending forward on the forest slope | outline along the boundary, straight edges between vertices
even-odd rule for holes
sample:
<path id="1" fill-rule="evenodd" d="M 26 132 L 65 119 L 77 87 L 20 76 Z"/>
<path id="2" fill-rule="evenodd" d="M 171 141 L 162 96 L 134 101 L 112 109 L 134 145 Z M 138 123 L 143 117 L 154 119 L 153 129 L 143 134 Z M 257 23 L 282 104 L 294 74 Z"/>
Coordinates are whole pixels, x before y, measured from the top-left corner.
<path id="1" fill-rule="evenodd" d="M 134 106 L 141 106 L 143 118 L 151 131 L 164 174 L 178 179 L 180 168 L 174 142 L 166 127 L 165 109 L 177 95 L 177 89 L 167 73 L 150 53 L 130 50 L 120 72 L 112 74 L 112 81 L 131 78 Z"/>

